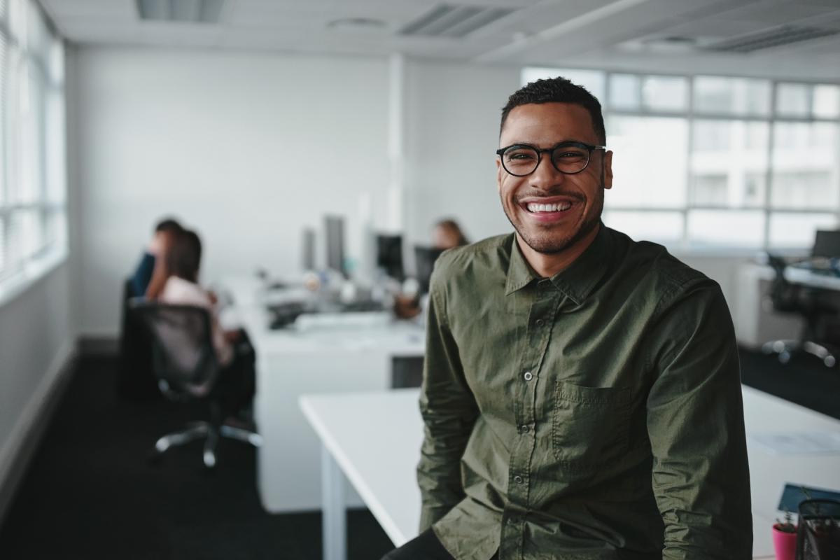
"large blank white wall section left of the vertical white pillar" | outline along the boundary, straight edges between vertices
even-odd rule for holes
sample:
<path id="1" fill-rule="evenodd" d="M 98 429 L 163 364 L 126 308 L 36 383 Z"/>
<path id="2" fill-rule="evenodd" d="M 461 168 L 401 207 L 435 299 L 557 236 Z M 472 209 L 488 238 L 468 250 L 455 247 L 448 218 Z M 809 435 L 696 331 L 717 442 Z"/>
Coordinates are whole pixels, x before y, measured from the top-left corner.
<path id="1" fill-rule="evenodd" d="M 297 271 L 301 230 L 344 214 L 359 245 L 388 181 L 387 62 L 219 51 L 80 48 L 76 134 L 81 331 L 113 336 L 123 278 L 154 222 L 205 244 L 202 280 Z M 355 237 L 354 237 L 355 236 Z"/>

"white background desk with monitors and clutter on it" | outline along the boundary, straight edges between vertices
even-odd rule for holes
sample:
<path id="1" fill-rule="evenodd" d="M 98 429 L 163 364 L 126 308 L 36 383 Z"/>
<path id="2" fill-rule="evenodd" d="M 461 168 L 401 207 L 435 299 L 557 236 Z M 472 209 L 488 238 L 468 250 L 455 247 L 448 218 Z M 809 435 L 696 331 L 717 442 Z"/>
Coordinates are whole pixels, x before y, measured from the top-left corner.
<path id="1" fill-rule="evenodd" d="M 389 389 L 393 358 L 423 356 L 423 327 L 391 322 L 272 331 L 257 281 L 234 279 L 223 285 L 235 301 L 227 320 L 248 329 L 257 355 L 255 421 L 263 437 L 257 486 L 262 505 L 271 513 L 318 510 L 320 447 L 298 396 Z M 351 503 L 362 505 L 358 497 L 351 496 Z"/>

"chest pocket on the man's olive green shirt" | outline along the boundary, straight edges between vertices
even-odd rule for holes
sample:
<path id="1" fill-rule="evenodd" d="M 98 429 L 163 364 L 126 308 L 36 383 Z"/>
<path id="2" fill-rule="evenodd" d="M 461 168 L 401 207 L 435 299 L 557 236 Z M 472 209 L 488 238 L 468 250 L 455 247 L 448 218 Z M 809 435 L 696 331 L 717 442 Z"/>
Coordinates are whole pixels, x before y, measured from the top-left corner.
<path id="1" fill-rule="evenodd" d="M 570 471 L 618 460 L 627 451 L 631 391 L 558 380 L 551 438 L 554 457 Z"/>

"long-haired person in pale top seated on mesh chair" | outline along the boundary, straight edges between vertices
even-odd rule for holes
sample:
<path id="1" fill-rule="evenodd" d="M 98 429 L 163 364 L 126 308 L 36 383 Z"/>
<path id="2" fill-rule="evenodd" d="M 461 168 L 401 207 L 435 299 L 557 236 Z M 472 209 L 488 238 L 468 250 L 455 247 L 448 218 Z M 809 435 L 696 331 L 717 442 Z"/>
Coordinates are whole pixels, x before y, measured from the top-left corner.
<path id="1" fill-rule="evenodd" d="M 198 234 L 181 230 L 171 236 L 166 250 L 165 283 L 157 298 L 160 303 L 204 307 L 210 311 L 213 348 L 222 366 L 216 390 L 221 395 L 224 415 L 247 418 L 255 393 L 255 352 L 244 329 L 224 330 L 218 319 L 216 298 L 198 284 L 202 242 Z M 237 423 L 228 418 L 226 423 Z"/>

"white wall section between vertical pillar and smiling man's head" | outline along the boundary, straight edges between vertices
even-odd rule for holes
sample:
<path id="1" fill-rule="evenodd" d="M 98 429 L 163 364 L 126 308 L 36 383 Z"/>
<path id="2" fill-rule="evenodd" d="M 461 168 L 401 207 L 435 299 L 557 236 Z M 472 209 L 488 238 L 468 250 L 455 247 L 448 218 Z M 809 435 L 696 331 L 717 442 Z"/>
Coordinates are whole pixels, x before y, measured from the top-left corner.
<path id="1" fill-rule="evenodd" d="M 407 65 L 409 235 L 430 243 L 434 222 L 454 217 L 472 241 L 512 231 L 496 187 L 501 107 L 520 69 L 426 60 Z"/>

